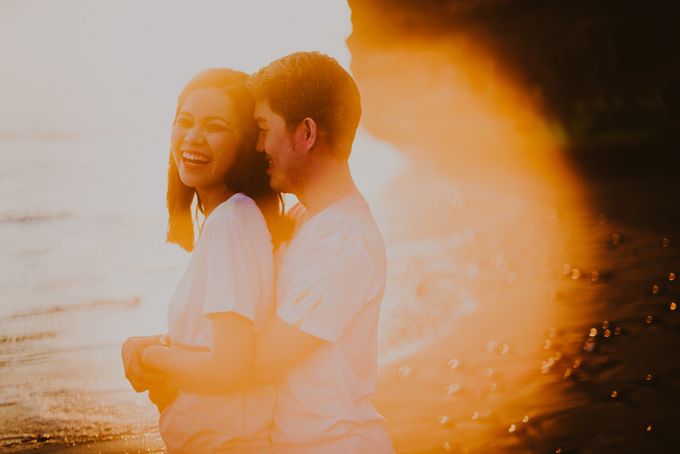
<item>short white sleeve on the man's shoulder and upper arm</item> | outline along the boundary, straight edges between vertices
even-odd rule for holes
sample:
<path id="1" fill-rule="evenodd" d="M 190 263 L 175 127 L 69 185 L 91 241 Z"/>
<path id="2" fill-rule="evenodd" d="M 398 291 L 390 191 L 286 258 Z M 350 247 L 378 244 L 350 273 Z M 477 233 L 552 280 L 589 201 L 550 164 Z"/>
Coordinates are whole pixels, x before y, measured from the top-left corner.
<path id="1" fill-rule="evenodd" d="M 377 289 L 379 273 L 360 239 L 333 235 L 298 251 L 279 281 L 277 315 L 321 339 L 338 340 Z"/>

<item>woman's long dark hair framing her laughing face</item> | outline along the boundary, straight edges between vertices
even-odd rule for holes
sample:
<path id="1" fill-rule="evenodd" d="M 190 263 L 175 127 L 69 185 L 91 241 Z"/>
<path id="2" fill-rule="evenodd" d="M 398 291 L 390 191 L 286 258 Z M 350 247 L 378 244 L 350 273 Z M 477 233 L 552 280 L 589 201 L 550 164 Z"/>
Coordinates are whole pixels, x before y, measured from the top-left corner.
<path id="1" fill-rule="evenodd" d="M 281 193 L 272 190 L 269 186 L 267 160 L 264 153 L 258 153 L 255 149 L 258 134 L 257 124 L 253 119 L 255 101 L 248 89 L 247 79 L 247 74 L 227 68 L 201 71 L 186 84 L 179 94 L 173 124 L 177 120 L 182 104 L 194 90 L 216 88 L 227 95 L 236 114 L 240 146 L 227 172 L 225 183 L 231 191 L 241 192 L 255 200 L 267 221 L 267 227 L 276 247 L 284 239 L 288 230 L 283 216 L 283 197 Z M 169 243 L 175 243 L 189 252 L 194 249 L 194 224 L 191 216 L 194 196 L 197 199 L 196 209 L 204 213 L 203 203 L 196 190 L 186 186 L 180 179 L 171 150 L 166 196 L 168 206 L 166 239 Z"/>

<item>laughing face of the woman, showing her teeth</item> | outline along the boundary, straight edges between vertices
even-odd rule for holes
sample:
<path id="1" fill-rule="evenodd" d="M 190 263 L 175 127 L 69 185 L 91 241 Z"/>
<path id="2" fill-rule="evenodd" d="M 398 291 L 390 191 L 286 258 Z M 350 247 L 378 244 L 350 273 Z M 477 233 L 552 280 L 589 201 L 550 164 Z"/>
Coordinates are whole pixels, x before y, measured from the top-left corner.
<path id="1" fill-rule="evenodd" d="M 222 190 L 240 138 L 229 97 L 216 88 L 189 94 L 172 128 L 172 157 L 179 176 L 197 190 Z"/>

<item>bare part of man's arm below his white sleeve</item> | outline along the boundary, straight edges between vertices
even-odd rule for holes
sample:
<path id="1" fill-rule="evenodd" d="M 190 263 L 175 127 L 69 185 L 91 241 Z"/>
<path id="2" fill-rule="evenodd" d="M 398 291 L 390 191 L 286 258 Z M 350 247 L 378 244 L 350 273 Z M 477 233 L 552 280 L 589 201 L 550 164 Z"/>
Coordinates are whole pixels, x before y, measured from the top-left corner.
<path id="1" fill-rule="evenodd" d="M 305 333 L 272 314 L 255 340 L 253 380 L 274 384 L 327 341 Z"/>

